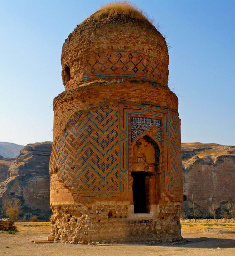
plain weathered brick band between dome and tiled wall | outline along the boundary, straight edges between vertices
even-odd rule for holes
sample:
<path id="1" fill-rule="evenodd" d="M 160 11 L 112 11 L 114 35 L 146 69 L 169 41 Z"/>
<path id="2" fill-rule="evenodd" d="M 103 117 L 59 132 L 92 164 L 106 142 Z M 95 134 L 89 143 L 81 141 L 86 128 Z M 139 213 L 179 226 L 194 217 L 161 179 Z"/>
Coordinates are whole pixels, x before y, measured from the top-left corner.
<path id="1" fill-rule="evenodd" d="M 80 109 L 107 104 L 148 104 L 173 112 L 178 111 L 178 99 L 167 87 L 144 81 L 112 80 L 84 84 L 84 87 L 65 91 L 54 99 L 54 138 L 61 135 L 71 115 Z"/>

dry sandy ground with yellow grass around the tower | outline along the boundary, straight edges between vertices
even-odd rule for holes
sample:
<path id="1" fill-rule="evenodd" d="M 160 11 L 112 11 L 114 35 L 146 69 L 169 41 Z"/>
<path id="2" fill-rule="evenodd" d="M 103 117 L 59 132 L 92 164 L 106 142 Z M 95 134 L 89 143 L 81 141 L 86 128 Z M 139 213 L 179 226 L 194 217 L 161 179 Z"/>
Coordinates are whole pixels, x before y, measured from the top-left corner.
<path id="1" fill-rule="evenodd" d="M 188 241 L 181 244 L 99 246 L 35 244 L 31 240 L 47 239 L 48 222 L 16 226 L 16 234 L 0 232 L 0 256 L 235 256 L 235 223 L 182 223 L 182 236 Z"/>

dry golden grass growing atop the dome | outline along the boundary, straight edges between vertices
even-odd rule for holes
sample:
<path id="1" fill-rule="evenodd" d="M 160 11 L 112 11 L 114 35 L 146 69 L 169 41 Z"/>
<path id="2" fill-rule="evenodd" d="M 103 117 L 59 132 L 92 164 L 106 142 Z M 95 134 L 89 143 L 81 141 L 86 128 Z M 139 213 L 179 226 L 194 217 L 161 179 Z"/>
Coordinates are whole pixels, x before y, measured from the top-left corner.
<path id="1" fill-rule="evenodd" d="M 105 4 L 100 8 L 94 16 L 108 18 L 110 16 L 130 16 L 131 18 L 146 20 L 154 24 L 154 19 L 149 16 L 135 4 L 128 1 L 113 1 Z"/>

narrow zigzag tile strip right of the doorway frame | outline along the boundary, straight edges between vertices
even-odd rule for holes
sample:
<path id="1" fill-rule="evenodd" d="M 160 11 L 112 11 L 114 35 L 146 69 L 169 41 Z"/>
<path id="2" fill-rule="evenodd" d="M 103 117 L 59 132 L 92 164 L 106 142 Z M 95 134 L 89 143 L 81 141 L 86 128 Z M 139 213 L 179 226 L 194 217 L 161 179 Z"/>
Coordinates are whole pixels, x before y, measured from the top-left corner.
<path id="1" fill-rule="evenodd" d="M 180 122 L 176 114 L 169 112 L 170 187 L 173 194 L 182 194 L 182 159 Z"/>

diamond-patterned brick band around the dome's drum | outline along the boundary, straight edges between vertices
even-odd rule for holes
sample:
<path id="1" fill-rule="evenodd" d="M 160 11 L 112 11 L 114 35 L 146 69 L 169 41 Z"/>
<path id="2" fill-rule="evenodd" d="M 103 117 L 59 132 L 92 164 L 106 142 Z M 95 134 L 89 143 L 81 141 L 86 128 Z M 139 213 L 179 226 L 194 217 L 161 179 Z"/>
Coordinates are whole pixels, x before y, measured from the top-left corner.
<path id="1" fill-rule="evenodd" d="M 94 77 L 128 76 L 166 83 L 168 65 L 156 57 L 125 50 L 86 57 L 82 80 Z"/>

